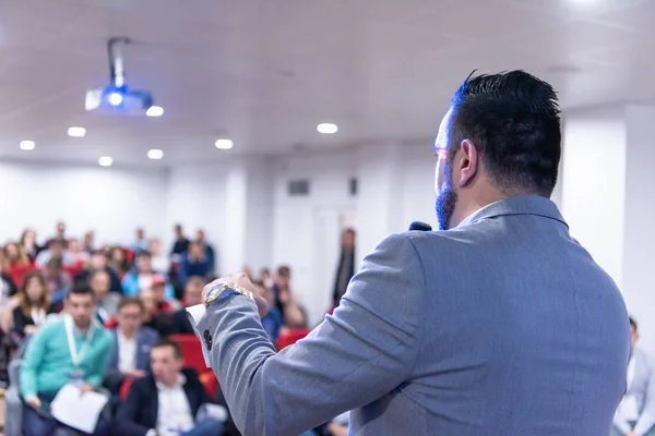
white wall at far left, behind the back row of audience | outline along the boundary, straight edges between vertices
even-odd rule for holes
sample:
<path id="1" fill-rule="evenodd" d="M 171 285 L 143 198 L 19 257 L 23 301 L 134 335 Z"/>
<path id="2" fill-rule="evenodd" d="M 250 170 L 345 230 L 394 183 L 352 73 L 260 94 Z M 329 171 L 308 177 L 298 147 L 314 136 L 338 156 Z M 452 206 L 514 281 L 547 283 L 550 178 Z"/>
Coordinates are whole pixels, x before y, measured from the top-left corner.
<path id="1" fill-rule="evenodd" d="M 58 220 L 71 237 L 95 230 L 98 243 L 129 243 L 139 226 L 164 234 L 166 199 L 164 171 L 1 162 L 0 243 L 26 227 L 45 241 Z"/>

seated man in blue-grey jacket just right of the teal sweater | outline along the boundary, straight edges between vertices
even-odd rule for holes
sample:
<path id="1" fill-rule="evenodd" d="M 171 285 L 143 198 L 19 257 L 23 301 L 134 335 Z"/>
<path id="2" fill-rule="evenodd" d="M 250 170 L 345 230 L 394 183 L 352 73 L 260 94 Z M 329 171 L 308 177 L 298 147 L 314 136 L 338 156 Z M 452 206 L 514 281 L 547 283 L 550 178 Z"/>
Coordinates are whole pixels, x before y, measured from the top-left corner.
<path id="1" fill-rule="evenodd" d="M 144 313 L 143 302 L 136 298 L 126 296 L 118 303 L 115 347 L 105 378 L 105 386 L 114 393 L 127 377 L 141 378 L 150 371 L 150 351 L 159 336 L 143 326 Z"/>

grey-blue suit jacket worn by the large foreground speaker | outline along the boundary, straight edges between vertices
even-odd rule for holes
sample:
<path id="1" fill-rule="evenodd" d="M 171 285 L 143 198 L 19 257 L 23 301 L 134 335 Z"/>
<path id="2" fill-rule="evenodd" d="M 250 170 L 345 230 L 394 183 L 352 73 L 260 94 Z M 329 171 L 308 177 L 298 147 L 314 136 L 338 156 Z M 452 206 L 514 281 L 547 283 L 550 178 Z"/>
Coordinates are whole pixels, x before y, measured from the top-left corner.
<path id="1" fill-rule="evenodd" d="M 630 353 L 616 284 L 535 196 L 389 237 L 334 314 L 277 354 L 249 299 L 198 327 L 249 436 L 348 410 L 354 436 L 607 435 Z"/>

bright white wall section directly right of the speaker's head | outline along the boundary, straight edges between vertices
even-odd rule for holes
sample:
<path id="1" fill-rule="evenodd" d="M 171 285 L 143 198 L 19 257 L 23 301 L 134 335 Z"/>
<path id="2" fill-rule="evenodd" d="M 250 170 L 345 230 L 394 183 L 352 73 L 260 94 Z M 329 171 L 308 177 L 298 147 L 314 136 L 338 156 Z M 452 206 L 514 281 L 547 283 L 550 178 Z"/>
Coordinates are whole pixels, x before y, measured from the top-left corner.
<path id="1" fill-rule="evenodd" d="M 562 214 L 571 234 L 621 287 L 626 201 L 622 108 L 569 113 L 563 129 Z"/>

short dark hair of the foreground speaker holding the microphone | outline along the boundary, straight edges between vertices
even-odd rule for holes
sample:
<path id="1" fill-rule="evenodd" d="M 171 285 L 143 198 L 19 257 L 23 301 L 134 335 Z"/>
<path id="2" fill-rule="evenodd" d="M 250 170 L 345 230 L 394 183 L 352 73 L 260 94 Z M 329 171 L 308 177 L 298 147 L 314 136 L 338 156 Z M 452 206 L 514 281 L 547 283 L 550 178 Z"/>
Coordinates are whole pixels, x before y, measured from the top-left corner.
<path id="1" fill-rule="evenodd" d="M 474 73 L 452 100 L 449 162 L 462 141 L 471 140 L 499 190 L 550 196 L 561 157 L 552 86 L 524 71 Z"/>

